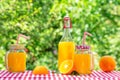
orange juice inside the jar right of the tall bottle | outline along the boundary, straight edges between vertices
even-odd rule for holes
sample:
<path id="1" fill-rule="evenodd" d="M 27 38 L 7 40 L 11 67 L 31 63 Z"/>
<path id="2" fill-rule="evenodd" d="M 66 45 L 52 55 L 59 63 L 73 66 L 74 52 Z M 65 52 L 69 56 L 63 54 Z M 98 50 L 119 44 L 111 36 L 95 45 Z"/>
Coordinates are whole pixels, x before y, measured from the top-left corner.
<path id="1" fill-rule="evenodd" d="M 91 54 L 74 54 L 74 66 L 79 74 L 90 74 L 92 69 Z"/>

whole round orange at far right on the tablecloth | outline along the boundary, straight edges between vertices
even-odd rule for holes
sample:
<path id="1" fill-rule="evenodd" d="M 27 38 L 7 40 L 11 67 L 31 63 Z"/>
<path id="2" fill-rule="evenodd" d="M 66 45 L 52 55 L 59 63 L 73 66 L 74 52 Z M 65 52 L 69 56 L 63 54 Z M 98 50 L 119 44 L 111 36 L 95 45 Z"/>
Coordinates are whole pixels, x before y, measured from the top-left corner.
<path id="1" fill-rule="evenodd" d="M 116 67 L 116 61 L 112 56 L 103 56 L 99 62 L 100 68 L 105 72 L 113 71 Z"/>

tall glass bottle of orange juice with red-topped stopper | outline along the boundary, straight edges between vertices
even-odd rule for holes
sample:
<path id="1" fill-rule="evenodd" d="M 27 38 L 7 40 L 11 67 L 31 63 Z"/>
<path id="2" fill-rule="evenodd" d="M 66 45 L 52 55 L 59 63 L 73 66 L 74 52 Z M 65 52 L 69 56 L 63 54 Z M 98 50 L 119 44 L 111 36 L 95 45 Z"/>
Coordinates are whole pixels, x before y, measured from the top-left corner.
<path id="1" fill-rule="evenodd" d="M 64 33 L 58 44 L 58 68 L 64 60 L 74 58 L 75 44 L 70 34 L 71 21 L 69 17 L 64 17 Z"/>

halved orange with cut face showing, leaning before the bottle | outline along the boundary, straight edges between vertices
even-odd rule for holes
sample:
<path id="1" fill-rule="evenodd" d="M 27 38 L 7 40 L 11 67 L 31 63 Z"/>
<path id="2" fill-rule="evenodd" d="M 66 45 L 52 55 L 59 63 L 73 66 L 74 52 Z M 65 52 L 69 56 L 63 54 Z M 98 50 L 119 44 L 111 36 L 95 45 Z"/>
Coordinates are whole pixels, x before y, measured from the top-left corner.
<path id="1" fill-rule="evenodd" d="M 60 64 L 59 72 L 62 74 L 70 74 L 73 71 L 73 60 L 65 60 Z"/>

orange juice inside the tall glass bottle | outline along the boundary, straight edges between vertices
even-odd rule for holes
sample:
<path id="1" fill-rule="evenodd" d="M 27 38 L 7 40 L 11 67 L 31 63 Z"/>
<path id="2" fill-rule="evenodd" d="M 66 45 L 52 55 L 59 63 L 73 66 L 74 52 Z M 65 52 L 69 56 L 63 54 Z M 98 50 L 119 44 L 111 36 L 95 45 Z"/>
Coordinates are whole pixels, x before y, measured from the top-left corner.
<path id="1" fill-rule="evenodd" d="M 74 58 L 75 44 L 74 42 L 59 42 L 58 45 L 58 67 L 61 62 Z"/>

